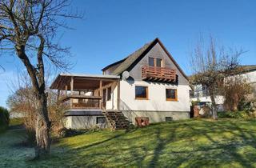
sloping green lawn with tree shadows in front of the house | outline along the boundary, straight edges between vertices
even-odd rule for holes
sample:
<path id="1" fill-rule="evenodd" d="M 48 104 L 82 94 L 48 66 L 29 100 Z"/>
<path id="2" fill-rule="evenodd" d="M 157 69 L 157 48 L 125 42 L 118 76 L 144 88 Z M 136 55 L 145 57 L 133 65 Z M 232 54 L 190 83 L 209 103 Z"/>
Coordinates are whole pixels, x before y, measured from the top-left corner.
<path id="1" fill-rule="evenodd" d="M 256 120 L 190 119 L 62 138 L 32 160 L 24 130 L 0 135 L 0 167 L 256 167 Z"/>

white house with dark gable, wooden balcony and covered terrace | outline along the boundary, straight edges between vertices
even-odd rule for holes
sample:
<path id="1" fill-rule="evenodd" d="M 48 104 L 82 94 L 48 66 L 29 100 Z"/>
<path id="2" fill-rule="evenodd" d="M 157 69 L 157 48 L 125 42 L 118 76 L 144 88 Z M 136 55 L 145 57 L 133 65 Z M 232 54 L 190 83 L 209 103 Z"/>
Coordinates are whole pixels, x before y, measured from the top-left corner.
<path id="1" fill-rule="evenodd" d="M 66 127 L 122 128 L 140 117 L 150 123 L 190 118 L 188 78 L 158 38 L 102 72 L 59 74 L 50 86 L 70 106 Z"/>

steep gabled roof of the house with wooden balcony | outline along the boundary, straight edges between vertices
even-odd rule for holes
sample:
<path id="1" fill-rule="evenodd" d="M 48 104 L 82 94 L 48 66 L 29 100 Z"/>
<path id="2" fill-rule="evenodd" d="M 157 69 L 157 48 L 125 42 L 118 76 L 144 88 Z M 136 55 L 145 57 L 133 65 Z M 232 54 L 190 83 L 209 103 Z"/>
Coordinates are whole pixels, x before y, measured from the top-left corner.
<path id="1" fill-rule="evenodd" d="M 171 56 L 171 54 L 166 50 L 166 47 L 163 46 L 162 42 L 155 38 L 154 41 L 146 43 L 146 45 L 142 46 L 140 49 L 136 50 L 133 54 L 130 54 L 128 57 L 120 60 L 119 62 L 114 62 L 113 64 L 110 64 L 109 66 L 106 66 L 103 68 L 103 70 L 106 70 L 110 66 L 117 65 L 118 63 L 121 63 L 120 66 L 118 66 L 112 74 L 119 75 L 122 74 L 123 71 L 128 70 L 130 71 L 153 47 L 159 43 L 159 45 L 162 47 L 162 49 L 166 52 L 168 57 L 171 59 L 172 62 L 174 62 L 174 65 L 178 68 L 178 70 L 182 73 L 182 75 L 186 77 L 186 74 L 183 72 L 180 66 L 178 66 L 178 63 L 175 62 L 174 58 Z"/>

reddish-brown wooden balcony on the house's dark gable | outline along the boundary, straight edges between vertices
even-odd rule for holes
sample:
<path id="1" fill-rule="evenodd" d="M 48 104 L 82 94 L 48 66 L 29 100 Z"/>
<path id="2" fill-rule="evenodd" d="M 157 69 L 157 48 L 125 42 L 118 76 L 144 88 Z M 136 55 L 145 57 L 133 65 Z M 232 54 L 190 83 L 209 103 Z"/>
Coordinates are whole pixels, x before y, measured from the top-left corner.
<path id="1" fill-rule="evenodd" d="M 152 82 L 176 82 L 176 70 L 156 66 L 143 66 L 142 80 Z"/>

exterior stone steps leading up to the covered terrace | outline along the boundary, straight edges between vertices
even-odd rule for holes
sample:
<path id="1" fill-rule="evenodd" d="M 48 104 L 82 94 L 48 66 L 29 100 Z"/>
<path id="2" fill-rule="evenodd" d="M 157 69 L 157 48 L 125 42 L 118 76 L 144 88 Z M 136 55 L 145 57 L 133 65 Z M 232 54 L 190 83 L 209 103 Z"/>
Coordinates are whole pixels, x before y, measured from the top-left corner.
<path id="1" fill-rule="evenodd" d="M 102 110 L 102 114 L 105 115 L 106 121 L 110 123 L 113 130 L 127 129 L 130 126 L 130 122 L 118 110 Z"/>

